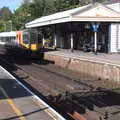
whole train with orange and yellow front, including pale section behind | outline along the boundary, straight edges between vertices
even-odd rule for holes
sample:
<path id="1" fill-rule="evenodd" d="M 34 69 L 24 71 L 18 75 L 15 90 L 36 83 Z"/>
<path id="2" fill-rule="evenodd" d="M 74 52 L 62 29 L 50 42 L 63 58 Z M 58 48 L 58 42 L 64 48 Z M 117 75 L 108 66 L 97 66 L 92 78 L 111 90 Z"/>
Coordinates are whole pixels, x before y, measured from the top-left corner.
<path id="1" fill-rule="evenodd" d="M 21 30 L 0 33 L 0 46 L 9 52 L 22 51 L 29 56 L 38 56 L 43 49 L 42 36 L 37 30 Z"/>

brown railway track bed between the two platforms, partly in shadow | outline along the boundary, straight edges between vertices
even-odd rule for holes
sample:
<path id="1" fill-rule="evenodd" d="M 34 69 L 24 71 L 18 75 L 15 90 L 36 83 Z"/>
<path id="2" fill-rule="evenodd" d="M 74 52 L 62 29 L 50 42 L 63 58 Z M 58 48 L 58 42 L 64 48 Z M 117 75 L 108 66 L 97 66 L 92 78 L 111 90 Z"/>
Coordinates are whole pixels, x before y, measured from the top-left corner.
<path id="1" fill-rule="evenodd" d="M 23 74 L 25 83 L 41 92 L 45 100 L 68 120 L 119 119 L 120 95 L 111 89 L 90 81 L 75 80 L 59 70 L 57 72 L 56 68 L 50 69 L 49 65 L 36 64 L 34 60 L 19 61 L 11 56 L 1 58 L 0 62 L 18 76 Z"/>

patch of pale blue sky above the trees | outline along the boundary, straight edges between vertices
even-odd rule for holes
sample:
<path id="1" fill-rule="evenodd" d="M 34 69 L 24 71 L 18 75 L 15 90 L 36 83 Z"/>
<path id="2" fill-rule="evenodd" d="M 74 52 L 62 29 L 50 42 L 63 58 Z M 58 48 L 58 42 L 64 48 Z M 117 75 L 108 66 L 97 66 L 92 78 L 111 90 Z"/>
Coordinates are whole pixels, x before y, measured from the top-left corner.
<path id="1" fill-rule="evenodd" d="M 9 7 L 11 11 L 14 11 L 20 6 L 23 0 L 0 0 L 0 8 L 3 6 Z"/>

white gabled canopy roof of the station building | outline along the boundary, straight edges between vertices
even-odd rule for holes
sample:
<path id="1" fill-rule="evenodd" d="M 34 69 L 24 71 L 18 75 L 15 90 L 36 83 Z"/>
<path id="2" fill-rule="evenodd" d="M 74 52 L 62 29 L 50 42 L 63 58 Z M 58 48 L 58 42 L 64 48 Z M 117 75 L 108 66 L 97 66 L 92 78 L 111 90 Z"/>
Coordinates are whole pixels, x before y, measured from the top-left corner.
<path id="1" fill-rule="evenodd" d="M 58 12 L 52 15 L 35 19 L 25 26 L 26 28 L 40 27 L 65 22 L 120 22 L 120 3 L 103 5 L 100 3 L 71 10 Z"/>

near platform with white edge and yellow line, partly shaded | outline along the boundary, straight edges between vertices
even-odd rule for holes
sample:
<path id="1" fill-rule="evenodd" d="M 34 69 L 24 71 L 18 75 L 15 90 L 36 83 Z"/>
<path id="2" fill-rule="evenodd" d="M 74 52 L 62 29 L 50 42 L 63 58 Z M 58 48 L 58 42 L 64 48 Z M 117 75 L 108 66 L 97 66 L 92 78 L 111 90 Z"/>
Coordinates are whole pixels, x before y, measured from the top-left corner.
<path id="1" fill-rule="evenodd" d="M 0 66 L 1 120 L 65 120 Z"/>

